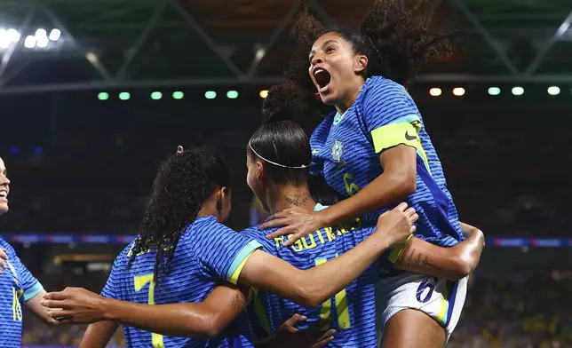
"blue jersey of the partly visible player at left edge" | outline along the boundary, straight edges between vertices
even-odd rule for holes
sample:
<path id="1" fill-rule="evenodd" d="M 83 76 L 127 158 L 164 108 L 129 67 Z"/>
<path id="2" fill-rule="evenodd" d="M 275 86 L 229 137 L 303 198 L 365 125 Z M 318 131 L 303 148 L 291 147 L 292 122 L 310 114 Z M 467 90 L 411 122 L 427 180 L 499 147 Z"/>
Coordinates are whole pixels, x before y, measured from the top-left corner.
<path id="1" fill-rule="evenodd" d="M 20 348 L 24 305 L 44 288 L 21 263 L 12 246 L 2 238 L 0 248 L 6 249 L 8 255 L 8 268 L 0 274 L 0 345 Z"/>

